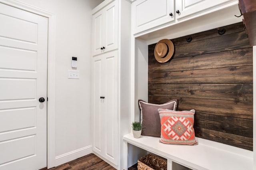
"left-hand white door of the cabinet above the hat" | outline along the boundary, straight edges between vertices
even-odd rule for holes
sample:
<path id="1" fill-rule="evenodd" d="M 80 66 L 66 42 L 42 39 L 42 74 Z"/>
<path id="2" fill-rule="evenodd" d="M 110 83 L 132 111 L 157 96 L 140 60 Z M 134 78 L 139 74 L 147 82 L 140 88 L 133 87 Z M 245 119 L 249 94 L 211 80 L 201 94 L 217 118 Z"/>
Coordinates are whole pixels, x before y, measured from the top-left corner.
<path id="1" fill-rule="evenodd" d="M 172 22 L 174 0 L 136 0 L 132 3 L 133 34 Z"/>

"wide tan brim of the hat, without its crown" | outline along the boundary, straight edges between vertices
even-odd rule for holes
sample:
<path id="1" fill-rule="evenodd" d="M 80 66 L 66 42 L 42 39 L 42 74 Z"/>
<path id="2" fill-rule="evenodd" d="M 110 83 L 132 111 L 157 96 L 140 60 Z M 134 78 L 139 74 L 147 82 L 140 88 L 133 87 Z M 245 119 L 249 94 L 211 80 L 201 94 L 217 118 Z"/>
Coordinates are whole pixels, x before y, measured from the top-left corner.
<path id="1" fill-rule="evenodd" d="M 168 46 L 169 51 L 165 57 L 160 57 L 156 52 L 156 47 L 159 43 L 165 43 Z M 174 53 L 174 45 L 171 40 L 168 40 L 168 39 L 160 40 L 158 43 L 156 43 L 156 47 L 154 49 L 154 56 L 159 63 L 165 63 L 172 58 L 172 55 Z"/>

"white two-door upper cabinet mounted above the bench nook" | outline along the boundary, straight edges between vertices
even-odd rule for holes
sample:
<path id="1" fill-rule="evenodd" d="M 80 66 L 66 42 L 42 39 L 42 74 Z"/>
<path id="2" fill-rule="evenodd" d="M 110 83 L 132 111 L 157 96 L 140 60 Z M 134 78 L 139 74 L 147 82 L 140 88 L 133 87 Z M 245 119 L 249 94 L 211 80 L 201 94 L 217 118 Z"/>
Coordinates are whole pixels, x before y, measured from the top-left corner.
<path id="1" fill-rule="evenodd" d="M 135 0 L 133 34 L 158 29 L 237 5 L 237 0 Z"/>

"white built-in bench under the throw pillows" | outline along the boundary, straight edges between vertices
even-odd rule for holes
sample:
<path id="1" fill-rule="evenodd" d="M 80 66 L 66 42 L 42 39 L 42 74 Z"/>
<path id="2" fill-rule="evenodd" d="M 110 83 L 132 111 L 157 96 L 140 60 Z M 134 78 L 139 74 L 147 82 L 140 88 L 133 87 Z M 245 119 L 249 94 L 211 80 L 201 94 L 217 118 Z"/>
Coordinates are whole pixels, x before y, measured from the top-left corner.
<path id="1" fill-rule="evenodd" d="M 194 146 L 163 144 L 158 137 L 134 138 L 132 134 L 125 135 L 123 139 L 126 144 L 166 158 L 168 170 L 172 170 L 172 162 L 192 170 L 253 170 L 252 151 L 202 138 L 196 138 L 198 145 Z"/>

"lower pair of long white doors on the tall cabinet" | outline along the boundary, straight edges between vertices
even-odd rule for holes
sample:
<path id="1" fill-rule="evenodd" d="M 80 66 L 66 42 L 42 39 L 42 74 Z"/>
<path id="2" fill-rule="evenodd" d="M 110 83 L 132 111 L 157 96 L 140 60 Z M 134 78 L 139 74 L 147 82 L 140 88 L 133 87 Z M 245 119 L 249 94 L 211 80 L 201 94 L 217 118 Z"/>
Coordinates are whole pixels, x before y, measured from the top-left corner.
<path id="1" fill-rule="evenodd" d="M 92 59 L 92 150 L 118 165 L 118 51 Z"/>

